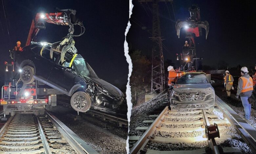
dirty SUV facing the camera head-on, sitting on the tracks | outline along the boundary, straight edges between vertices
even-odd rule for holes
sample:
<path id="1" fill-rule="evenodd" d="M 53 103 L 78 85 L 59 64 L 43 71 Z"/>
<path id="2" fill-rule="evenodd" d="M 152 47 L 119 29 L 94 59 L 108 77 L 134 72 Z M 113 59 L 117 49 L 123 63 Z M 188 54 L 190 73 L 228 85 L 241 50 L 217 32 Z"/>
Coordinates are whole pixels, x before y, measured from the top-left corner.
<path id="1" fill-rule="evenodd" d="M 205 73 L 186 73 L 180 76 L 169 93 L 173 112 L 190 109 L 209 109 L 215 104 L 215 92 Z"/>

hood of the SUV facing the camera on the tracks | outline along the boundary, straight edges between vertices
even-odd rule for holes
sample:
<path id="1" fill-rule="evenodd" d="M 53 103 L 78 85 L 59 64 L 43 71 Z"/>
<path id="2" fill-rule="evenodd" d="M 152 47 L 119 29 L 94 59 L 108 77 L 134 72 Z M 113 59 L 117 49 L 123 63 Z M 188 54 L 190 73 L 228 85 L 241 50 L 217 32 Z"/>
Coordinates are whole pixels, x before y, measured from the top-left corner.
<path id="1" fill-rule="evenodd" d="M 205 92 L 213 87 L 210 84 L 176 84 L 173 89 L 178 92 Z"/>

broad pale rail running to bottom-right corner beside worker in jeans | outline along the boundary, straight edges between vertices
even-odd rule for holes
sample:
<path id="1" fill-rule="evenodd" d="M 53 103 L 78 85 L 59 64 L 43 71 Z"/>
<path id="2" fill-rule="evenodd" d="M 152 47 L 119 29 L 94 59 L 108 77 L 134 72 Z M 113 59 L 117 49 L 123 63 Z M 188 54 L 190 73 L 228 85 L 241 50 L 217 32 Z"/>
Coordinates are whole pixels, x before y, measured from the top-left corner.
<path id="1" fill-rule="evenodd" d="M 253 153 L 256 153 L 256 131 L 249 125 L 245 119 L 238 115 L 231 107 L 223 102 L 217 95 L 215 95 L 215 103 L 218 108 L 224 113 L 228 121 L 233 125 L 239 135 L 243 138 L 245 143 L 250 147 Z"/>

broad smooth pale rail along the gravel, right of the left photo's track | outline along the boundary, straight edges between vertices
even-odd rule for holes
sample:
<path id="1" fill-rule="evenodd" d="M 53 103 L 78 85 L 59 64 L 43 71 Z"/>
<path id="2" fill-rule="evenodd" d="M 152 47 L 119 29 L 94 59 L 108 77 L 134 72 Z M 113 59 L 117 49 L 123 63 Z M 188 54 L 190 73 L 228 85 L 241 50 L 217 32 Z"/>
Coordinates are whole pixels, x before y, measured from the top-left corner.
<path id="1" fill-rule="evenodd" d="M 67 139 L 68 143 L 79 154 L 98 154 L 91 146 L 78 137 L 71 129 L 57 119 L 53 114 L 45 109 L 45 114 L 49 120 L 55 125 L 59 132 Z"/>

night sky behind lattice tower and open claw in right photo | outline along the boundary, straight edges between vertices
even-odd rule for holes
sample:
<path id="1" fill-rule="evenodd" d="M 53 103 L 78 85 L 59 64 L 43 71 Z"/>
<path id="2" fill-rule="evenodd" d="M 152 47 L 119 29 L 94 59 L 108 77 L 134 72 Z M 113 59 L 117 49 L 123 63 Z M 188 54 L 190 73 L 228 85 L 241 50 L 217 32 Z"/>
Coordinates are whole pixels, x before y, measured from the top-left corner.
<path id="1" fill-rule="evenodd" d="M 235 67 L 237 64 L 249 67 L 256 64 L 254 24 L 256 23 L 256 10 L 252 1 L 173 1 L 176 20 L 190 17 L 188 8 L 192 4 L 198 4 L 201 20 L 209 22 L 207 40 L 205 40 L 204 29 L 202 30 L 203 36 L 195 39 L 197 55 L 203 58 L 203 65 L 217 66 L 221 60 L 226 61 L 229 67 Z M 152 30 L 152 3 L 140 4 L 134 0 L 133 4 L 133 14 L 130 20 L 132 26 L 128 33 L 128 44 L 133 50 L 142 50 L 143 54 L 151 59 L 152 41 L 149 37 L 152 37 L 150 34 Z M 171 59 L 175 62 L 176 53 L 181 53 L 181 48 L 185 42 L 185 31 L 181 29 L 179 39 L 176 35 L 175 18 L 170 3 L 166 5 L 161 2 L 159 10 L 163 44 L 168 50 L 163 48 L 164 59 Z M 143 30 L 142 27 L 147 27 L 147 29 Z"/>

